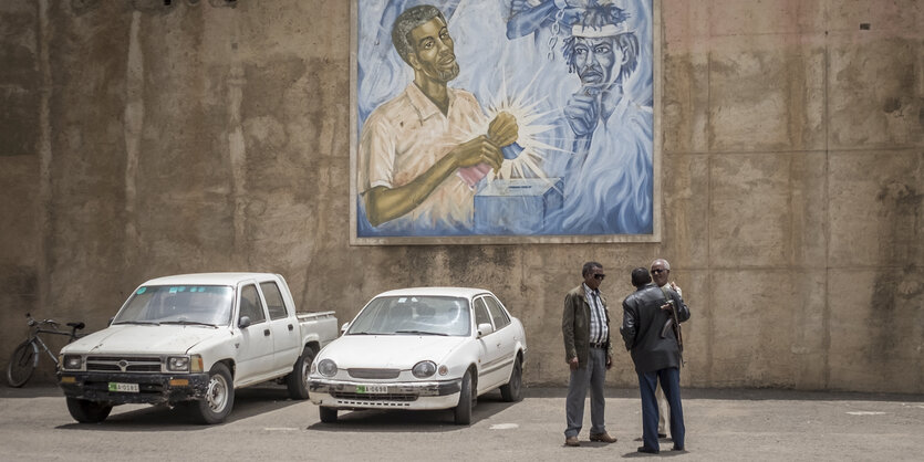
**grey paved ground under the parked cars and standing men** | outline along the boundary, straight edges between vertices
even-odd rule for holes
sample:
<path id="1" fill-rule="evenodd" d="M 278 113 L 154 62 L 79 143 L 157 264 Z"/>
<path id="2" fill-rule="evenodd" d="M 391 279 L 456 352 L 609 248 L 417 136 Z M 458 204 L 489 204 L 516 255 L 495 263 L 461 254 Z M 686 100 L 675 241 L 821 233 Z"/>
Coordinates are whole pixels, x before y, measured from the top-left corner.
<path id="1" fill-rule="evenodd" d="M 635 452 L 637 391 L 609 392 L 608 429 L 619 442 L 590 443 L 586 422 L 581 447 L 565 448 L 563 389 L 527 389 L 513 405 L 491 393 L 470 427 L 457 427 L 448 411 L 343 412 L 324 424 L 310 402 L 262 387 L 238 392 L 228 422 L 203 427 L 146 406 L 79 424 L 55 388 L 0 387 L 0 460 L 924 460 L 924 396 L 684 390 L 687 451 L 647 455 Z"/>

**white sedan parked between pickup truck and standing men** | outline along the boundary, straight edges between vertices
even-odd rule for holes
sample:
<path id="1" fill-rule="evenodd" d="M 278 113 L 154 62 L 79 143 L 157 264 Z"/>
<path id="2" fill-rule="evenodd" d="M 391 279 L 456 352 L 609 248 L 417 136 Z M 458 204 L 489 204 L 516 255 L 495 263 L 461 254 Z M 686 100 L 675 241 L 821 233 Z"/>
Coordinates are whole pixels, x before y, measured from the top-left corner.
<path id="1" fill-rule="evenodd" d="M 521 398 L 523 325 L 488 291 L 385 292 L 344 328 L 311 365 L 322 422 L 341 409 L 454 409 L 467 426 L 478 396 Z"/>

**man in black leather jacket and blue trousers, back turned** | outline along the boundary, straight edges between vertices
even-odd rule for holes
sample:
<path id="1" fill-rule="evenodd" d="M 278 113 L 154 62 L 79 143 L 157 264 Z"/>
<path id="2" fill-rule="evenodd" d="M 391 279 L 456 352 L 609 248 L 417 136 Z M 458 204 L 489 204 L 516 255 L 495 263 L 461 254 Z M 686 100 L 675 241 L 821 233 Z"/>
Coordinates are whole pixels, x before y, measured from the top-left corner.
<path id="1" fill-rule="evenodd" d="M 674 326 L 689 319 L 689 309 L 673 290 L 662 291 L 652 283 L 648 270 L 632 270 L 635 292 L 623 301 L 620 333 L 632 354 L 642 395 L 642 441 L 639 452 L 657 453 L 657 402 L 655 388 L 661 381 L 671 405 L 671 438 L 674 450 L 684 450 L 684 411 L 681 405 L 681 350 Z M 676 309 L 677 319 L 673 318 Z"/>

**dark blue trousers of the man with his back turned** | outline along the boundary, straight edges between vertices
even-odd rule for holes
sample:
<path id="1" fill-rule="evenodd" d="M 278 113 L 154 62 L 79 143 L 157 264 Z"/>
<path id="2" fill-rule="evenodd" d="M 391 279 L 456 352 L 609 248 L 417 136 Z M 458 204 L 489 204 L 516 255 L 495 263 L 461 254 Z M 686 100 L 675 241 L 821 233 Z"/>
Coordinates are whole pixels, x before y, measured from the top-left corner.
<path id="1" fill-rule="evenodd" d="M 642 392 L 642 442 L 648 448 L 661 449 L 657 443 L 657 401 L 654 396 L 658 381 L 671 405 L 671 438 L 674 445 L 683 448 L 686 429 L 684 409 L 681 405 L 681 369 L 676 367 L 639 374 L 639 389 Z"/>

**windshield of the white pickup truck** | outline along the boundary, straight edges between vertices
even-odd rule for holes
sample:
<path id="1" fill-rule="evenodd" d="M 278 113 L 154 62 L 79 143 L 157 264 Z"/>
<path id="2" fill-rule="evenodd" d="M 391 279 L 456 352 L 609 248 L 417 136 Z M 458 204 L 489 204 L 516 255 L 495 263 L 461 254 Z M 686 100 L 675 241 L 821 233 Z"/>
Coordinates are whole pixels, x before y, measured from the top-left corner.
<path id="1" fill-rule="evenodd" d="M 231 322 L 235 290 L 224 285 L 145 285 L 128 298 L 113 324 L 224 326 Z"/>

